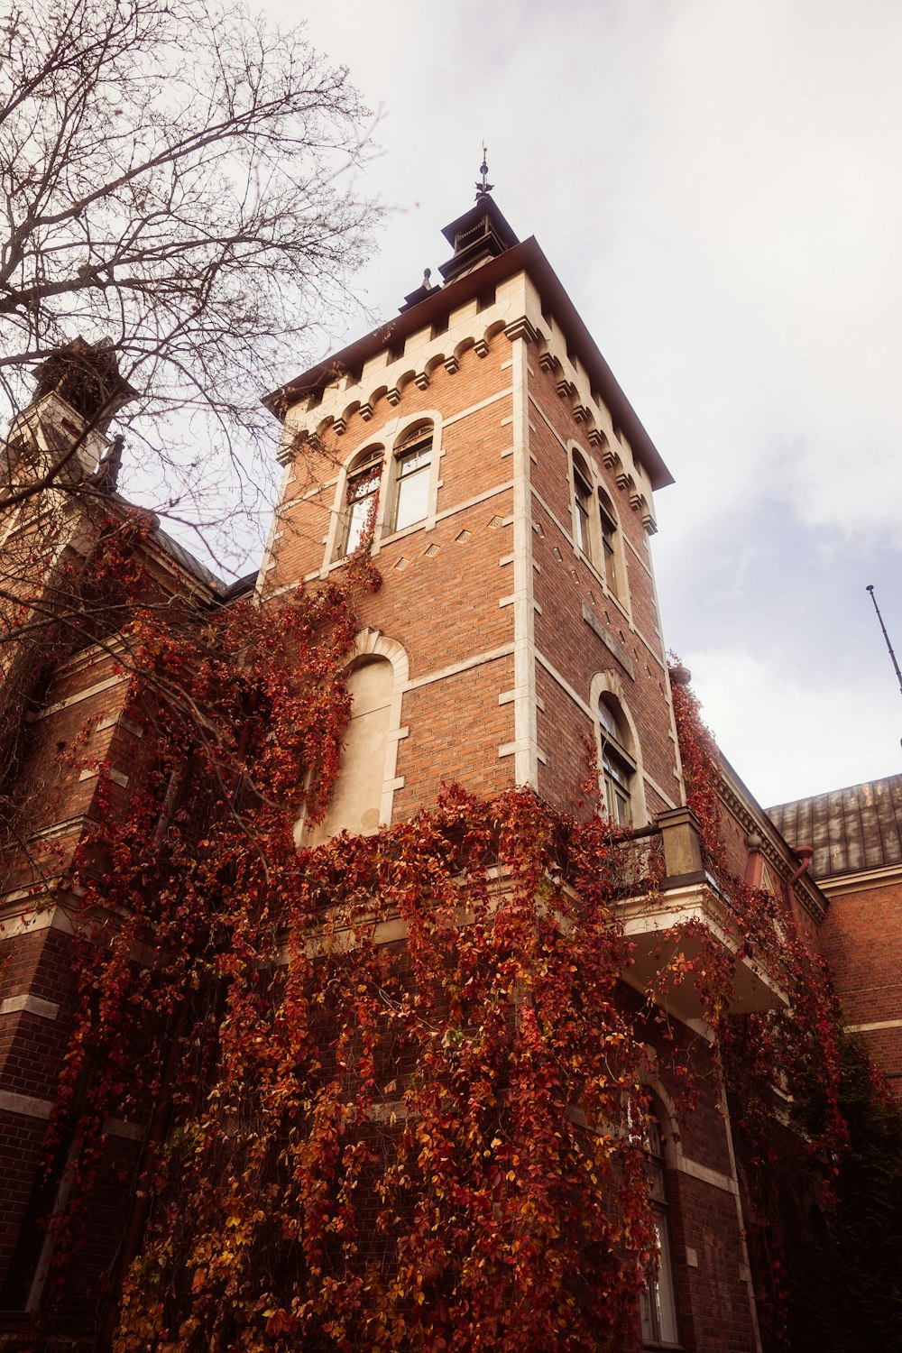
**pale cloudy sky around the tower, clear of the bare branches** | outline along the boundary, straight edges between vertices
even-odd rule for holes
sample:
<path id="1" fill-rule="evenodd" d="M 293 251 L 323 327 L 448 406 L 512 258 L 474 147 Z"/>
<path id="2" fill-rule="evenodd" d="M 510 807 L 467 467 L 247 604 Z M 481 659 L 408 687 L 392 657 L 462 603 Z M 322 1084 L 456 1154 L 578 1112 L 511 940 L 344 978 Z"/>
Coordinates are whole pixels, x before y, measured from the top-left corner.
<path id="1" fill-rule="evenodd" d="M 865 587 L 902 651 L 902 5 L 260 8 L 376 118 L 356 187 L 385 216 L 335 344 L 445 260 L 485 141 L 676 480 L 664 639 L 725 755 L 764 805 L 901 771 Z"/>

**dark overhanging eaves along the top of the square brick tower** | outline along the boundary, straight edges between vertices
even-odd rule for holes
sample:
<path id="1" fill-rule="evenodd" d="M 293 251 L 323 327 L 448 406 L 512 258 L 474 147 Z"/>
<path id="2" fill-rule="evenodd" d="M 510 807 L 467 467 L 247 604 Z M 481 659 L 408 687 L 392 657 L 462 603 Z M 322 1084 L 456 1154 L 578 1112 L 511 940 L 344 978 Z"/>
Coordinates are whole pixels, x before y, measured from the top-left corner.
<path id="1" fill-rule="evenodd" d="M 617 383 L 611 368 L 599 352 L 595 340 L 564 290 L 560 277 L 540 249 L 534 235 L 530 235 L 529 239 L 525 239 L 519 245 L 514 245 L 513 249 L 507 249 L 496 258 L 490 258 L 479 268 L 475 268 L 473 272 L 465 273 L 445 287 L 437 287 L 419 304 L 411 306 L 410 310 L 404 310 L 394 319 L 364 334 L 362 338 L 357 338 L 353 344 L 316 363 L 315 367 L 310 367 L 302 375 L 295 376 L 293 380 L 264 395 L 261 403 L 280 422 L 284 422 L 288 409 L 304 395 L 334 380 L 342 372 L 357 371 L 384 348 L 389 345 L 396 346 L 410 334 L 435 323 L 437 319 L 444 318 L 449 311 L 465 304 L 468 300 L 481 295 L 492 285 L 517 272 L 527 273 L 542 296 L 544 307 L 554 315 L 554 321 L 567 340 L 568 349 L 579 357 L 592 388 L 598 390 L 610 410 L 614 423 L 625 433 L 633 452 L 648 471 L 652 488 L 659 490 L 672 484 L 673 476 L 642 426 L 638 414 Z"/>

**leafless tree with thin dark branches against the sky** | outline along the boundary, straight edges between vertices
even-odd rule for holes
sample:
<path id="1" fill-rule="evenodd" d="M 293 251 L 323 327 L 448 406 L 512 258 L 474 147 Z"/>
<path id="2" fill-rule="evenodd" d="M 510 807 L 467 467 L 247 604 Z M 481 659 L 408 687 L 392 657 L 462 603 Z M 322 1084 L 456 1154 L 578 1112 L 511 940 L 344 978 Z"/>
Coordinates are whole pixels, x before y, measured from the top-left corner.
<path id="1" fill-rule="evenodd" d="M 223 460 L 166 448 L 215 444 L 235 463 L 265 429 L 262 388 L 345 306 L 372 219 L 342 173 L 365 118 L 343 68 L 239 7 L 14 5 L 0 19 L 0 419 L 60 346 L 110 342 L 133 441 L 153 452 L 147 482 L 165 482 L 164 507 L 184 507 L 189 484 L 199 520 Z"/>

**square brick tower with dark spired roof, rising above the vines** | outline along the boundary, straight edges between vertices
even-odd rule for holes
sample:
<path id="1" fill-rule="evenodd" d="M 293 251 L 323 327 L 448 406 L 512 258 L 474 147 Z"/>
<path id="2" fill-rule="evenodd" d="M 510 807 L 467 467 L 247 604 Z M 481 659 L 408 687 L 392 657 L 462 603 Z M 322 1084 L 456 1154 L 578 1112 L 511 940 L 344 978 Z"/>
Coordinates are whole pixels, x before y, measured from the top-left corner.
<path id="1" fill-rule="evenodd" d="M 368 517 L 384 579 L 316 839 L 442 781 L 571 809 L 592 760 L 641 827 L 682 801 L 649 553 L 671 476 L 536 239 L 481 185 L 444 234 L 444 285 L 266 398 L 285 478 L 261 597 L 329 578 Z"/>

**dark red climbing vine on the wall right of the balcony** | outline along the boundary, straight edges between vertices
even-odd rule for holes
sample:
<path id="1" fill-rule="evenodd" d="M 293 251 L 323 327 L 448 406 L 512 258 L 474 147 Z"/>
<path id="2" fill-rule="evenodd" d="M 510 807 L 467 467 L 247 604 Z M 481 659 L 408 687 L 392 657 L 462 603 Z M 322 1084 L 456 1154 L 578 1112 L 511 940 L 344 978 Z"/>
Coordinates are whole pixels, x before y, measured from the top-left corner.
<path id="1" fill-rule="evenodd" d="M 717 744 L 702 723 L 688 674 L 673 660 L 673 710 L 687 804 L 699 821 L 706 867 L 730 913 L 728 948 L 711 942 L 699 990 L 717 1032 L 732 1130 L 745 1191 L 761 1334 L 767 1349 L 797 1349 L 798 1292 L 791 1243 L 811 1243 L 806 1226 L 787 1227 L 787 1200 L 797 1214 L 829 1211 L 848 1130 L 841 1109 L 841 1019 L 826 965 L 799 934 L 783 896 L 748 886 L 730 869 L 723 831 L 722 773 Z M 730 957 L 730 950 L 734 958 Z M 760 961 L 780 989 L 775 1008 L 737 1015 L 728 990 L 734 962 Z M 719 977 L 714 974 L 719 973 Z"/>

